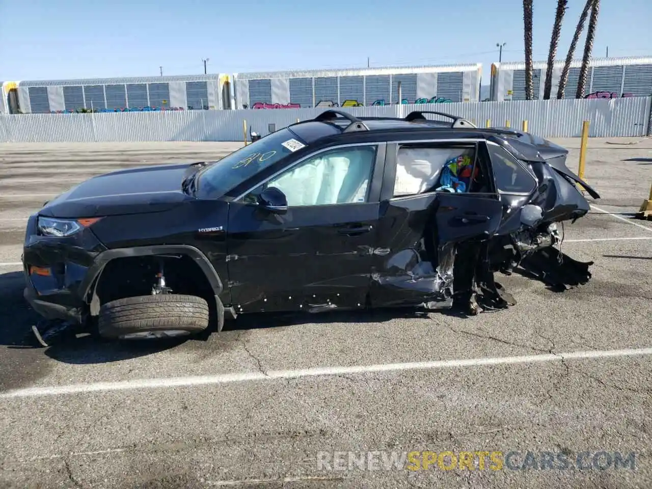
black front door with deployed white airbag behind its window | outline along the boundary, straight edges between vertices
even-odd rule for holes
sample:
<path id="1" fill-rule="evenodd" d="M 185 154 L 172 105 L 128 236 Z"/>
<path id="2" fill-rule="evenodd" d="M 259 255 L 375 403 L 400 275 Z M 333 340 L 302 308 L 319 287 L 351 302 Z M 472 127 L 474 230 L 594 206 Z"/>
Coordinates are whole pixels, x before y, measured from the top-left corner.
<path id="1" fill-rule="evenodd" d="M 230 204 L 228 269 L 236 312 L 364 307 L 378 228 L 377 145 L 321 151 Z M 257 205 L 268 187 L 286 213 Z"/>

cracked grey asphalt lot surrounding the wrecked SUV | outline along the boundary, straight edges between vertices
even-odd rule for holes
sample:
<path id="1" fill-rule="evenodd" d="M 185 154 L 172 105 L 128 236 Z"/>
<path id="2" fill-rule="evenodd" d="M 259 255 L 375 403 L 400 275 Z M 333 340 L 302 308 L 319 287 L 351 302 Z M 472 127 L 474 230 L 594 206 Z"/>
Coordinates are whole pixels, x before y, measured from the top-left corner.
<path id="1" fill-rule="evenodd" d="M 579 141 L 557 141 L 576 170 Z M 602 198 L 561 245 L 595 261 L 585 286 L 497 274 L 518 304 L 471 318 L 252 315 L 185 342 L 33 346 L 27 216 L 91 175 L 237 147 L 0 145 L 1 488 L 652 486 L 652 222 L 631 218 L 650 139 L 589 141 Z"/>

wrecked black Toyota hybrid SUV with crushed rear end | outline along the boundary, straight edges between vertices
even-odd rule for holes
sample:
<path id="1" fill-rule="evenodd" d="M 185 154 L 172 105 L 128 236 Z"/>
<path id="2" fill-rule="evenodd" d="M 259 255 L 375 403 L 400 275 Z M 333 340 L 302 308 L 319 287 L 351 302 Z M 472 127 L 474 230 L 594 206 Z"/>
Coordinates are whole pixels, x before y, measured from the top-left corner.
<path id="1" fill-rule="evenodd" d="M 591 276 L 555 247 L 582 192 L 599 198 L 566 156 L 443 113 L 328 110 L 216 162 L 114 171 L 47 202 L 27 223 L 25 298 L 107 338 L 261 311 L 504 308 L 494 273 Z"/>

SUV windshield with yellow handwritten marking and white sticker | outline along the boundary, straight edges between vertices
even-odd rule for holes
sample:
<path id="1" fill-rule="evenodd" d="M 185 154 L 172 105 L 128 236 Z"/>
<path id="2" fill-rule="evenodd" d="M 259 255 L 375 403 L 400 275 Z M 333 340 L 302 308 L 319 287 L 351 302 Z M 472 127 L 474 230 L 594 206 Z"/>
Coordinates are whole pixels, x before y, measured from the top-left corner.
<path id="1" fill-rule="evenodd" d="M 199 187 L 203 193 L 225 194 L 304 146 L 306 143 L 288 128 L 273 132 L 209 166 L 200 175 Z"/>

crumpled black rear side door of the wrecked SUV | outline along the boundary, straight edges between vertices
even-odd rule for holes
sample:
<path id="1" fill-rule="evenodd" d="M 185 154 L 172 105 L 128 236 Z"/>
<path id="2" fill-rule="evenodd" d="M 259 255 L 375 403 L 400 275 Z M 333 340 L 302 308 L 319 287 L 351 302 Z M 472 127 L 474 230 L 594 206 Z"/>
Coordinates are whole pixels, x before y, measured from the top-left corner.
<path id="1" fill-rule="evenodd" d="M 394 188 L 382 196 L 387 200 L 381 203 L 374 249 L 372 305 L 447 307 L 454 260 L 464 259 L 455 256 L 456 244 L 487 238 L 500 224 L 501 201 L 488 165 L 477 158 L 475 143 L 396 145 L 387 155 L 385 181 Z M 442 175 L 456 158 L 470 162 L 468 174 L 475 177 L 458 185 L 461 192 L 450 192 L 445 187 L 451 180 Z"/>

